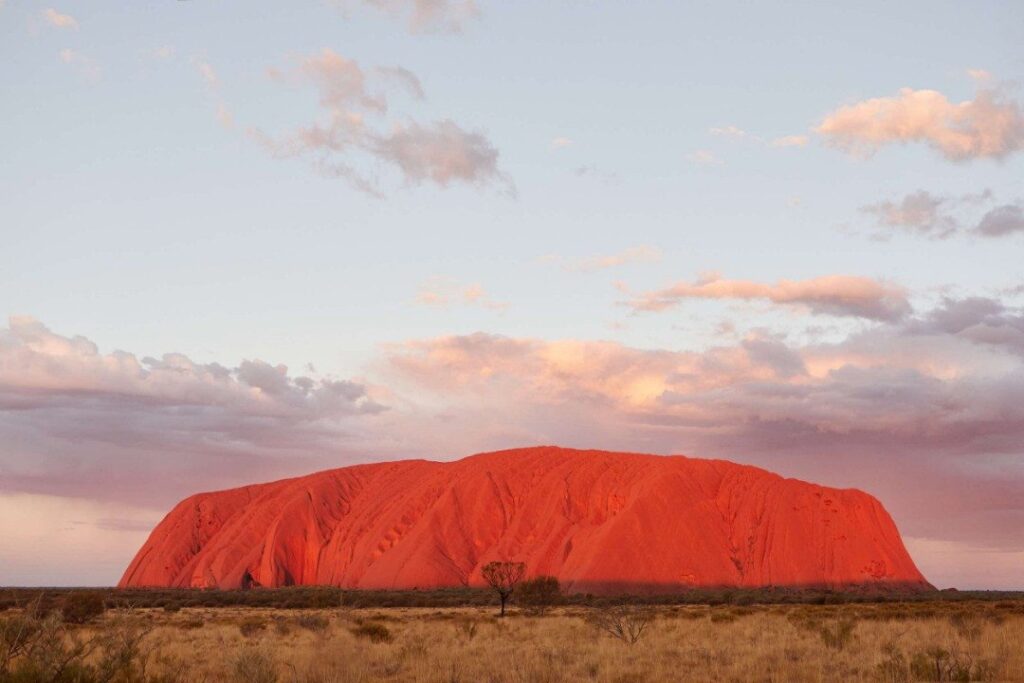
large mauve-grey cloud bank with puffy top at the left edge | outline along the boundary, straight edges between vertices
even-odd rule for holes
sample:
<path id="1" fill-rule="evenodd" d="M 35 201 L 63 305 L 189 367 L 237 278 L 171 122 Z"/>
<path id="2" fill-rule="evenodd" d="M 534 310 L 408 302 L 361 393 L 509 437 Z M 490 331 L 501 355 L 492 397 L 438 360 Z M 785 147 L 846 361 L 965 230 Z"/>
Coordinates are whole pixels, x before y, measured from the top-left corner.
<path id="1" fill-rule="evenodd" d="M 260 359 L 102 353 L 12 317 L 0 328 L 0 488 L 154 504 L 250 478 L 244 464 L 280 475 L 357 440 L 385 411 L 377 391 Z"/>

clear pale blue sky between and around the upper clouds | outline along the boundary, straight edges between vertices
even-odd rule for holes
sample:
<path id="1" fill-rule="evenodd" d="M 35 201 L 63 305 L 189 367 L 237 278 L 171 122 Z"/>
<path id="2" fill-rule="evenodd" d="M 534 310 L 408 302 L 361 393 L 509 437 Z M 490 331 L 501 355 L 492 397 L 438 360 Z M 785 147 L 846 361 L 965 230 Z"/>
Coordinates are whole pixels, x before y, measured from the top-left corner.
<path id="1" fill-rule="evenodd" d="M 33 314 L 103 348 L 175 348 L 358 371 L 377 342 L 485 329 L 700 343 L 684 312 L 629 319 L 610 281 L 649 289 L 701 270 L 775 280 L 846 272 L 915 292 L 1010 285 L 1005 244 L 887 244 L 839 226 L 857 207 L 918 188 L 1019 190 L 1021 160 L 942 163 L 924 145 L 869 162 L 814 141 L 771 148 L 709 133 L 737 126 L 806 134 L 829 111 L 900 87 L 968 99 L 968 69 L 1024 66 L 1012 2 L 486 3 L 462 34 L 411 34 L 367 8 L 328 2 L 8 0 L 0 14 L 0 167 L 6 312 Z M 157 59 L 154 50 L 174 56 Z M 332 48 L 365 67 L 416 73 L 427 99 L 402 114 L 484 131 L 517 199 L 495 188 L 406 187 L 375 200 L 271 159 L 240 130 L 311 120 L 313 96 L 268 67 Z M 94 59 L 89 82 L 62 63 Z M 217 124 L 193 59 L 208 61 L 238 126 Z M 573 144 L 552 148 L 556 137 Z M 721 165 L 687 159 L 708 150 Z M 594 167 L 613 176 L 578 177 Z M 799 199 L 799 207 L 787 202 Z M 538 266 L 635 244 L 655 265 L 580 275 Z M 1019 246 L 1019 245 L 1018 245 Z M 412 305 L 431 275 L 479 283 L 504 314 Z M 609 330 L 612 322 L 628 330 Z"/>

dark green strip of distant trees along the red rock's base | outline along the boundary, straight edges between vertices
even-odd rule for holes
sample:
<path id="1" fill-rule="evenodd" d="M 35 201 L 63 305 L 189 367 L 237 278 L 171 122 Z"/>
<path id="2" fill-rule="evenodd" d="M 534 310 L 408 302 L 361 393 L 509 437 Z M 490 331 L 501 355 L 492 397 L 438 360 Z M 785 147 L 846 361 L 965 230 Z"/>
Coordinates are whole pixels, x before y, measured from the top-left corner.
<path id="1" fill-rule="evenodd" d="M 117 588 L 0 588 L 0 610 L 39 601 L 53 608 L 70 595 L 98 596 L 106 608 L 163 608 L 174 611 L 194 607 L 267 607 L 275 609 L 326 609 L 365 607 L 474 607 L 496 603 L 485 588 L 445 588 L 408 591 L 357 591 L 332 587 L 212 589 L 117 589 Z M 966 600 L 1020 600 L 1024 592 L 999 591 L 828 591 L 818 589 L 721 589 L 683 593 L 638 592 L 621 595 L 561 594 L 557 604 L 566 606 L 633 605 L 755 605 L 755 604 L 849 604 L 878 602 L 958 602 Z M 513 597 L 513 602 L 515 598 Z"/>

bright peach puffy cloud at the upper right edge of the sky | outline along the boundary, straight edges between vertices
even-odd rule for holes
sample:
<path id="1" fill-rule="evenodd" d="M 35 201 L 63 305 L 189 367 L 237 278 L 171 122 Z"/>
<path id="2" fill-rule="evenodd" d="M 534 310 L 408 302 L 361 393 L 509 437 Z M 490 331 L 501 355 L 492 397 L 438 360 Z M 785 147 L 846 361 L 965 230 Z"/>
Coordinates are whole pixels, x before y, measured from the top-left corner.
<path id="1" fill-rule="evenodd" d="M 1024 113 L 994 89 L 953 103 L 935 90 L 903 88 L 892 97 L 842 106 L 815 132 L 861 157 L 887 144 L 924 142 L 953 162 L 1004 159 L 1024 148 Z"/>

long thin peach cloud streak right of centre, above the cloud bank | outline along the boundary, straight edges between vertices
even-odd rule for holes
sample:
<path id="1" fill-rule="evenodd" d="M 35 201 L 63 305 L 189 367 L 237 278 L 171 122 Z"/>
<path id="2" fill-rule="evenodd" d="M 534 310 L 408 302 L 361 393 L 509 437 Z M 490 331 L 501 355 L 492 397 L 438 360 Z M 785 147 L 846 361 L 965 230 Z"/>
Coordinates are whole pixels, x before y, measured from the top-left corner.
<path id="1" fill-rule="evenodd" d="M 718 273 L 694 283 L 647 292 L 627 302 L 635 311 L 659 311 L 686 299 L 765 300 L 801 306 L 815 314 L 896 321 L 910 312 L 906 293 L 891 284 L 854 275 L 823 275 L 810 280 L 780 280 L 774 285 L 748 280 L 723 280 Z"/>

